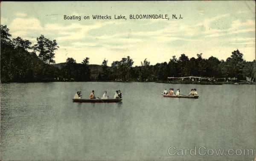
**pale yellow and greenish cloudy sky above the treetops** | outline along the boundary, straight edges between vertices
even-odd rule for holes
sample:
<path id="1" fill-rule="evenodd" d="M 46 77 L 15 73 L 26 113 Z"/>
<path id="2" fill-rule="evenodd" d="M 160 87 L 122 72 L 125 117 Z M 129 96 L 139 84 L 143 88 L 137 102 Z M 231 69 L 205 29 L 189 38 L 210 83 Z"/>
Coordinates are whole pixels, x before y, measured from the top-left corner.
<path id="1" fill-rule="evenodd" d="M 115 20 L 114 15 L 126 20 Z M 129 15 L 168 14 L 169 20 L 129 19 Z M 172 19 L 176 14 L 182 19 Z M 81 20 L 64 20 L 64 15 Z M 111 16 L 93 20 L 92 15 Z M 84 20 L 89 16 L 89 20 Z M 56 40 L 55 62 L 68 57 L 77 63 L 102 64 L 130 56 L 134 66 L 145 58 L 151 65 L 172 56 L 226 60 L 239 49 L 246 61 L 255 59 L 255 1 L 110 1 L 1 2 L 0 23 L 12 38 L 36 43 L 41 34 Z"/>

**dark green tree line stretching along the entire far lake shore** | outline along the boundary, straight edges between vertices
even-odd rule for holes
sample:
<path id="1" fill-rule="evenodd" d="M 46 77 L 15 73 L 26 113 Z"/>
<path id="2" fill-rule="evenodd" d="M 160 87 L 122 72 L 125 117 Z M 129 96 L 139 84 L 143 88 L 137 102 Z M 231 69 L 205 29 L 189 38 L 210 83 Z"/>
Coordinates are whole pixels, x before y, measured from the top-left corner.
<path id="1" fill-rule="evenodd" d="M 11 40 L 10 37 L 7 26 L 1 25 L 1 82 L 166 82 L 168 76 L 235 78 L 235 81 L 245 80 L 247 76 L 255 81 L 255 60 L 246 62 L 239 50 L 231 52 L 226 61 L 214 56 L 203 59 L 202 54 L 189 59 L 185 54 L 181 54 L 179 58 L 172 56 L 169 62 L 150 65 L 145 59 L 141 66 L 133 67 L 134 61 L 130 56 L 112 62 L 111 66 L 108 66 L 108 60 L 104 59 L 100 71 L 91 73 L 88 57 L 81 63 L 67 58 L 61 68 L 55 67 L 55 51 L 58 50 L 56 40 L 49 40 L 41 35 L 37 38 L 37 44 L 32 45 L 29 40 L 20 37 Z"/>

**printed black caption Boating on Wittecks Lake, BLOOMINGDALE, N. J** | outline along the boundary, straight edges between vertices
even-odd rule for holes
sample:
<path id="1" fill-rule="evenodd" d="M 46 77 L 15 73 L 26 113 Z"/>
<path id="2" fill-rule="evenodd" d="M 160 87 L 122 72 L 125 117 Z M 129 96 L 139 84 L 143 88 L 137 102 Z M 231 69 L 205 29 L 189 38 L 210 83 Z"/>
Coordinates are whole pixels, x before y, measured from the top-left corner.
<path id="1" fill-rule="evenodd" d="M 85 15 L 85 16 L 76 16 L 76 15 L 64 15 L 64 20 L 143 20 L 143 19 L 160 19 L 160 20 L 170 20 L 170 19 L 183 19 L 181 14 L 115 14 L 115 15 Z"/>

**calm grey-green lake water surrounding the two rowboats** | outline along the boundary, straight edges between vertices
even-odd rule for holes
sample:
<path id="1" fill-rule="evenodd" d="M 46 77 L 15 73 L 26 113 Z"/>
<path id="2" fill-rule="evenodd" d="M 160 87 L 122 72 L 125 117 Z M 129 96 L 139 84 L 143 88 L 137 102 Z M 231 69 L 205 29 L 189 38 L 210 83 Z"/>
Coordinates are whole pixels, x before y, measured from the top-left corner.
<path id="1" fill-rule="evenodd" d="M 163 98 L 160 93 L 165 88 L 180 88 L 185 95 L 197 88 L 199 99 Z M 110 98 L 121 90 L 123 101 L 72 102 L 80 90 L 86 99 L 91 90 L 99 97 L 106 90 Z M 255 85 L 3 83 L 1 159 L 250 161 L 256 148 L 255 106 Z M 253 155 L 172 156 L 170 146 L 205 147 L 202 153 L 253 149 Z"/>

